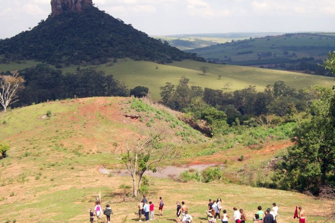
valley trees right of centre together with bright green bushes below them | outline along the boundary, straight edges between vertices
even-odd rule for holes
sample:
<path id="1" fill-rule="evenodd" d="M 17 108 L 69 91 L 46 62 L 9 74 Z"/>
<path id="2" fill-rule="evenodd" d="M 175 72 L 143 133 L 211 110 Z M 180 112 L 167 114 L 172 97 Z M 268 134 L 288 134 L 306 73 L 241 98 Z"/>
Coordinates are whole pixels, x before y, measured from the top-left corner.
<path id="1" fill-rule="evenodd" d="M 204 120 L 211 134 L 228 131 L 227 124 L 276 126 L 295 122 L 306 111 L 312 99 L 311 90 L 295 90 L 277 81 L 264 92 L 249 86 L 234 92 L 223 92 L 199 86 L 188 86 L 182 77 L 177 86 L 167 83 L 161 87 L 162 102 L 172 109 L 190 114 L 193 121 Z"/>

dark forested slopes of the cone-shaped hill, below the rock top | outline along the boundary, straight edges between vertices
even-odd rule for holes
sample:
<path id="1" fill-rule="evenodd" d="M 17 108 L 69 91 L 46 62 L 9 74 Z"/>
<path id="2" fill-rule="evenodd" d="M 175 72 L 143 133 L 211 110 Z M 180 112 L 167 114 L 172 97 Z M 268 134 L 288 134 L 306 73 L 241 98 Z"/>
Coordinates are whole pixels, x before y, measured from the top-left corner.
<path id="1" fill-rule="evenodd" d="M 183 59 L 204 61 L 196 54 L 148 37 L 96 7 L 84 13 L 49 16 L 31 31 L 0 40 L 0 55 L 2 63 L 34 59 L 58 66 L 101 64 L 110 58 L 124 57 L 157 63 Z"/>

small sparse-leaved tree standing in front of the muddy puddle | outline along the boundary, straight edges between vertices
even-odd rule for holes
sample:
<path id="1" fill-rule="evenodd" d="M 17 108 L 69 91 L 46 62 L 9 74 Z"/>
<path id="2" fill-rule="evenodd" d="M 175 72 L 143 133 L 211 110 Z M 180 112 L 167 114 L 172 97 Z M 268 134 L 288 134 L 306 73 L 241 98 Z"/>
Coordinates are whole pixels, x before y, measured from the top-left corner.
<path id="1" fill-rule="evenodd" d="M 131 146 L 126 143 L 127 151 L 121 155 L 121 163 L 124 163 L 127 170 L 133 178 L 133 195 L 137 196 L 141 186 L 142 176 L 145 171 L 157 171 L 157 163 L 161 162 L 163 157 L 167 157 L 169 148 L 161 143 L 164 140 L 163 130 L 150 135 L 137 144 Z"/>

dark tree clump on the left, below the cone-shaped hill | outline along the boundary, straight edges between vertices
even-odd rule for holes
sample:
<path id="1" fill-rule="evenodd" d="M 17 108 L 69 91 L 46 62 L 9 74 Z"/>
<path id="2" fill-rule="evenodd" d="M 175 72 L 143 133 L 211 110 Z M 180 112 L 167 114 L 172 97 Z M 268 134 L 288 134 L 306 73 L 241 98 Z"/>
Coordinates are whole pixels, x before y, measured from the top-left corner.
<path id="1" fill-rule="evenodd" d="M 19 94 L 14 106 L 31 105 L 47 100 L 92 97 L 128 96 L 127 87 L 103 71 L 95 68 L 78 69 L 76 73 L 62 74 L 62 70 L 50 68 L 47 64 L 21 71 L 25 89 Z"/>

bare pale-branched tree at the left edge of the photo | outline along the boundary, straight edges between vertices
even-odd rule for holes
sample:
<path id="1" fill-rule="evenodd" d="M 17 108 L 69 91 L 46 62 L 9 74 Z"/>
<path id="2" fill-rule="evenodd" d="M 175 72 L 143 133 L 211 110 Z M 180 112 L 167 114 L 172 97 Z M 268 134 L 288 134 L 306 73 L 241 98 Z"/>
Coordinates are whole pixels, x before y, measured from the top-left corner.
<path id="1" fill-rule="evenodd" d="M 0 104 L 6 112 L 8 105 L 18 101 L 18 92 L 24 88 L 25 80 L 17 70 L 12 75 L 0 75 Z"/>

